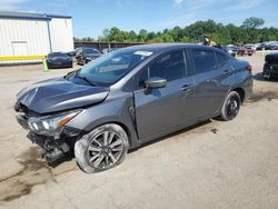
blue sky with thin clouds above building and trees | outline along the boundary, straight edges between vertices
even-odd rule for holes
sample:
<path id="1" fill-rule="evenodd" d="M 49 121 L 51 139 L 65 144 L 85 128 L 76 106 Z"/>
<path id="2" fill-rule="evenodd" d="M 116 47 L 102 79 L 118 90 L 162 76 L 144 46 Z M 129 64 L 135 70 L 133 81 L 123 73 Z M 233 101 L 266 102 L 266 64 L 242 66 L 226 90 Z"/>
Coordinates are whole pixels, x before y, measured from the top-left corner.
<path id="1" fill-rule="evenodd" d="M 161 31 L 208 19 L 241 26 L 249 17 L 278 28 L 277 0 L 0 0 L 0 10 L 71 16 L 78 38 L 98 38 L 111 27 Z"/>

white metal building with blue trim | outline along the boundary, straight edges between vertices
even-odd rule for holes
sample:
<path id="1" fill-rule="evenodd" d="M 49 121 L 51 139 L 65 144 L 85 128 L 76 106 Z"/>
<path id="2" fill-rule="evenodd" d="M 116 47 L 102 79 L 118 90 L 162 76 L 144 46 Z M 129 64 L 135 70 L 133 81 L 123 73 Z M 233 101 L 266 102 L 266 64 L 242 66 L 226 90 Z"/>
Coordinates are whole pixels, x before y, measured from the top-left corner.
<path id="1" fill-rule="evenodd" d="M 0 11 L 0 60 L 17 56 L 30 56 L 31 59 L 32 56 L 71 50 L 71 17 Z M 0 61 L 3 62 L 11 61 Z"/>

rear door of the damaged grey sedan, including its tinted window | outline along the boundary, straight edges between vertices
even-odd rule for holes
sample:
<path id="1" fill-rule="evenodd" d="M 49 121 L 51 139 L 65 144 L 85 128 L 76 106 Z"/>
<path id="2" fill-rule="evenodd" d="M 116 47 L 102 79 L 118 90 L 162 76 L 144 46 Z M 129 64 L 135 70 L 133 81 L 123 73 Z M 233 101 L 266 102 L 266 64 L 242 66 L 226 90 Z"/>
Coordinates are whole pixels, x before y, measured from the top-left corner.
<path id="1" fill-rule="evenodd" d="M 234 83 L 234 71 L 227 54 L 209 49 L 191 49 L 195 68 L 196 117 L 205 119 L 218 113 Z"/>

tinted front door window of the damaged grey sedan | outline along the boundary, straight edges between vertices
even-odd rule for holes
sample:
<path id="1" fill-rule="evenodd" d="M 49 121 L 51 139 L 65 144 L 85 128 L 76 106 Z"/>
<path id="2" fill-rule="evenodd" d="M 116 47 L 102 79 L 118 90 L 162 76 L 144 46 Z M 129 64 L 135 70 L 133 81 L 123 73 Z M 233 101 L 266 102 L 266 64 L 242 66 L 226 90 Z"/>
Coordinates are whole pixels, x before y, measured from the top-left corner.
<path id="1" fill-rule="evenodd" d="M 183 77 L 185 62 L 182 51 L 171 52 L 162 56 L 149 66 L 149 76 L 160 77 L 167 81 L 180 79 Z"/>

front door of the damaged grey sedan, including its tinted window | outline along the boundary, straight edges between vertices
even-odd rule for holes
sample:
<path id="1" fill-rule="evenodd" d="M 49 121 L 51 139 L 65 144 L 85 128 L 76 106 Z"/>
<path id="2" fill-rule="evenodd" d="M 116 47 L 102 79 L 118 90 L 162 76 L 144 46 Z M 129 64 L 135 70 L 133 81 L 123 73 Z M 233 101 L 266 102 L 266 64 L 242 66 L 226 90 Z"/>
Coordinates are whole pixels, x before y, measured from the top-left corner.
<path id="1" fill-rule="evenodd" d="M 152 77 L 167 80 L 167 86 L 145 92 L 145 81 Z M 192 79 L 186 77 L 185 52 L 172 51 L 160 56 L 137 76 L 135 91 L 136 121 L 141 141 L 167 133 L 189 121 L 185 112 L 187 98 L 192 96 Z"/>

